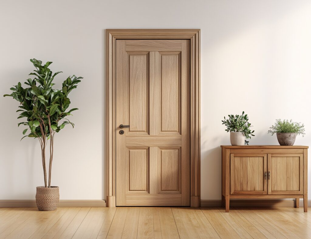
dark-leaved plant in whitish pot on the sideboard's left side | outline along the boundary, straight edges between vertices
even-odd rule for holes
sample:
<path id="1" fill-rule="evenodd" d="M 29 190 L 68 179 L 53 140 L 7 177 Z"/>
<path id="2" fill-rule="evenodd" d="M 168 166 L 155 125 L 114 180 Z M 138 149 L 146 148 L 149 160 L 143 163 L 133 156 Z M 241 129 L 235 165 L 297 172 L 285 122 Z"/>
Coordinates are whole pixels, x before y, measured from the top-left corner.
<path id="1" fill-rule="evenodd" d="M 225 131 L 230 132 L 230 143 L 231 145 L 244 145 L 249 143 L 246 139 L 251 139 L 254 130 L 251 131 L 249 128 L 252 127 L 248 122 L 248 116 L 244 115 L 244 111 L 242 115 L 228 115 L 229 119 L 224 117 L 224 120 L 221 120 L 222 124 L 227 126 Z"/>

